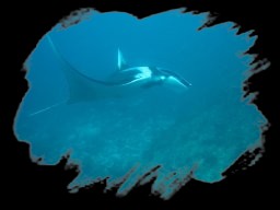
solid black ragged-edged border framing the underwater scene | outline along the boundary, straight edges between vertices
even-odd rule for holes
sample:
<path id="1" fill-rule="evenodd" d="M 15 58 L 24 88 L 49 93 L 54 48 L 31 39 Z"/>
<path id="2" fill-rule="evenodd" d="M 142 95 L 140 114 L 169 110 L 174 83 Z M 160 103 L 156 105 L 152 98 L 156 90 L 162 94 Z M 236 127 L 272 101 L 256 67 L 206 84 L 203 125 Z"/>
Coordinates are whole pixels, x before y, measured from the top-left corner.
<path id="1" fill-rule="evenodd" d="M 249 50 L 257 54 L 256 62 L 268 59 L 271 66 L 268 70 L 255 74 L 249 79 L 248 89 L 258 91 L 255 103 L 271 126 L 265 132 L 265 153 L 259 162 L 246 171 L 234 170 L 234 173 L 224 180 L 217 184 L 203 184 L 191 180 L 180 189 L 171 200 L 162 201 L 150 196 L 150 185 L 136 188 L 125 198 L 115 198 L 114 192 L 104 195 L 102 192 L 105 183 L 94 185 L 92 189 L 84 189 L 80 194 L 69 195 L 67 184 L 77 175 L 77 171 L 65 170 L 67 158 L 56 166 L 38 166 L 28 158 L 28 145 L 18 142 L 13 136 L 12 126 L 18 106 L 27 90 L 27 83 L 23 79 L 22 63 L 35 47 L 38 39 L 50 30 L 59 20 L 80 8 L 92 7 L 98 11 L 126 11 L 138 18 L 143 18 L 161 11 L 187 7 L 191 12 L 211 12 L 210 25 L 224 21 L 233 21 L 241 25 L 241 32 L 255 30 L 258 35 L 256 45 Z M 4 77 L 1 77 L 4 102 L 1 105 L 3 112 L 3 139 L 4 144 L 1 152 L 1 174 L 4 176 L 4 199 L 12 199 L 10 206 L 22 200 L 33 203 L 39 200 L 44 203 L 62 201 L 63 205 L 96 205 L 118 209 L 128 206 L 130 209 L 140 208 L 154 203 L 156 209 L 179 209 L 196 205 L 224 207 L 226 201 L 230 207 L 256 208 L 259 203 L 272 206 L 275 194 L 272 188 L 279 186 L 276 175 L 277 167 L 277 141 L 279 121 L 276 114 L 277 98 L 271 94 L 277 90 L 277 57 L 273 51 L 277 39 L 277 5 L 272 0 L 244 2 L 241 0 L 42 0 L 42 1 L 11 1 L 3 5 L 7 14 L 3 20 L 4 35 L 8 35 L 5 44 L 5 59 L 8 61 Z M 4 14 L 4 13 L 3 13 Z M 214 19 L 215 18 L 215 19 Z M 8 102 L 8 103 L 7 103 Z M 279 112 L 278 112 L 279 114 Z M 2 115 L 2 114 L 1 114 Z M 278 127 L 277 127 L 278 126 Z M 278 129 L 279 130 L 279 129 Z M 1 135 L 2 136 L 2 135 Z M 131 206 L 130 206 L 131 205 Z M 96 208 L 100 209 L 100 208 Z M 141 209 L 141 208 L 140 208 Z"/>

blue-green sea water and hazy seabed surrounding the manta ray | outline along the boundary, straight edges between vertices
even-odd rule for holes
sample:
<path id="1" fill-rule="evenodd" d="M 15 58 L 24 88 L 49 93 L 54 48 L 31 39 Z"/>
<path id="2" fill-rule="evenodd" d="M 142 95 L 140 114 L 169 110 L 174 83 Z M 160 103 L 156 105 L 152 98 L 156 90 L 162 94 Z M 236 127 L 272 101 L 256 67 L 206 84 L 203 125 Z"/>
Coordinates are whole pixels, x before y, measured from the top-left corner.
<path id="1" fill-rule="evenodd" d="M 25 62 L 30 90 L 15 119 L 18 139 L 31 143 L 32 158 L 43 158 L 40 164 L 55 164 L 70 153 L 81 173 L 69 188 L 105 177 L 109 188 L 125 177 L 118 195 L 126 195 L 156 165 L 152 191 L 164 199 L 190 173 L 202 182 L 221 180 L 240 155 L 261 144 L 266 119 L 242 90 L 253 60 L 243 52 L 256 37 L 237 36 L 233 23 L 198 31 L 205 21 L 206 14 L 180 10 L 142 20 L 91 11 L 77 25 L 57 24 L 48 33 L 54 45 L 91 78 L 104 80 L 116 71 L 120 48 L 129 65 L 170 69 L 192 86 L 183 93 L 147 89 L 125 98 L 67 105 L 69 81 L 44 36 Z"/>

